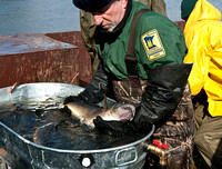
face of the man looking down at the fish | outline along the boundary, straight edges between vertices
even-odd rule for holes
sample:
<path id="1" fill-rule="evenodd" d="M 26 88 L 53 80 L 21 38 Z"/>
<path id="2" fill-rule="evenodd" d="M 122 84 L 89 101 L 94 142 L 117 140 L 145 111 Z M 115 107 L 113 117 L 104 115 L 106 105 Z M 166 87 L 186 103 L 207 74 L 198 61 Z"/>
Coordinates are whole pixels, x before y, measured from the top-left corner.
<path id="1" fill-rule="evenodd" d="M 110 4 L 92 12 L 94 24 L 112 31 L 123 19 L 128 0 L 112 0 Z"/>

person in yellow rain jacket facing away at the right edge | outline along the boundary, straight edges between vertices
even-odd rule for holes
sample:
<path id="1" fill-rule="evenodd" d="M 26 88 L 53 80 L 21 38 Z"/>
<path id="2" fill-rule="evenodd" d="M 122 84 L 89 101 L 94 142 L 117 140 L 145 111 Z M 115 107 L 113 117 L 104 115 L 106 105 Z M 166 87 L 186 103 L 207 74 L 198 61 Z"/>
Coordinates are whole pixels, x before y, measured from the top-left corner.
<path id="1" fill-rule="evenodd" d="M 183 0 L 181 18 L 189 77 L 195 108 L 194 142 L 211 168 L 222 167 L 222 22 L 221 12 L 206 0 Z"/>

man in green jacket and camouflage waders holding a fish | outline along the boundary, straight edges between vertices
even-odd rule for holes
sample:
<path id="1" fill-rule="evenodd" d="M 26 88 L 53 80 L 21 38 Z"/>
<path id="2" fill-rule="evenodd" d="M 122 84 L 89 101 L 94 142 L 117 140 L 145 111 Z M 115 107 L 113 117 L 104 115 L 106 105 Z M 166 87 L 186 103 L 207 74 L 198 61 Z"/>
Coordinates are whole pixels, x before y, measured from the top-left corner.
<path id="1" fill-rule="evenodd" d="M 100 67 L 84 91 L 65 98 L 64 103 L 77 99 L 98 103 L 112 90 L 118 102 L 137 107 L 135 116 L 125 122 L 97 117 L 95 129 L 112 136 L 134 136 L 148 133 L 155 125 L 153 139 L 169 146 L 168 168 L 189 169 L 194 132 L 188 86 L 192 66 L 183 63 L 186 46 L 180 28 L 167 17 L 149 11 L 140 17 L 135 37 L 130 39 L 135 13 L 148 9 L 143 3 L 134 0 L 73 0 L 73 3 L 93 14 Z"/>

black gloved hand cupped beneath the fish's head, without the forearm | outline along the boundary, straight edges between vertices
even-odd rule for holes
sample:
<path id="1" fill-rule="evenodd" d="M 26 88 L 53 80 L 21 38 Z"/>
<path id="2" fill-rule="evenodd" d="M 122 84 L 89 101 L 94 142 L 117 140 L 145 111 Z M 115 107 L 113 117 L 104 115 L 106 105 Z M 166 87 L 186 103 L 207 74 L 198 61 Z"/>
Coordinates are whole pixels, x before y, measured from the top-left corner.
<path id="1" fill-rule="evenodd" d="M 144 128 L 138 128 L 133 121 L 105 121 L 100 116 L 93 120 L 93 123 L 99 131 L 113 137 L 145 135 L 152 127 L 149 122 L 143 126 Z"/>

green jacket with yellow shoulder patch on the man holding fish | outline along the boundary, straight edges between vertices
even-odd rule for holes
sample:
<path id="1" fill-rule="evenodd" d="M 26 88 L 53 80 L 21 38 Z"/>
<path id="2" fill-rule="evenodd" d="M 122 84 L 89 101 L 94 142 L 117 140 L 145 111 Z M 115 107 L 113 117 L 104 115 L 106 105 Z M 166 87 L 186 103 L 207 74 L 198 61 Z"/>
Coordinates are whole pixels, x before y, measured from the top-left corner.
<path id="1" fill-rule="evenodd" d="M 123 21 L 108 32 L 100 27 L 95 30 L 95 46 L 103 60 L 107 72 L 118 79 L 127 79 L 128 72 L 124 57 L 128 50 L 129 36 L 134 14 L 147 8 L 137 1 L 129 1 Z M 128 12 L 129 11 L 129 12 Z M 145 68 L 153 69 L 167 63 L 182 63 L 186 46 L 182 31 L 167 17 L 149 11 L 143 13 L 135 29 L 135 57 L 139 77 L 147 79 Z"/>

